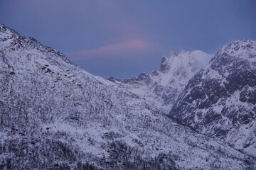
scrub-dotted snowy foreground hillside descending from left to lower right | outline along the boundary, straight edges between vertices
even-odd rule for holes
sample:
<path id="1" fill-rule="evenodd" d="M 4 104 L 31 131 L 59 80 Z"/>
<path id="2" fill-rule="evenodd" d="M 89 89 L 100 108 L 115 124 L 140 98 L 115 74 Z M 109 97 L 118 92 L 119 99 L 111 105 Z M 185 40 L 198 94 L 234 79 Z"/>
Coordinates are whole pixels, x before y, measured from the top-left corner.
<path id="1" fill-rule="evenodd" d="M 121 86 L 0 24 L 0 169 L 253 169 Z"/>

